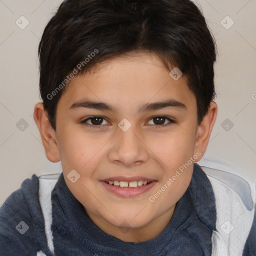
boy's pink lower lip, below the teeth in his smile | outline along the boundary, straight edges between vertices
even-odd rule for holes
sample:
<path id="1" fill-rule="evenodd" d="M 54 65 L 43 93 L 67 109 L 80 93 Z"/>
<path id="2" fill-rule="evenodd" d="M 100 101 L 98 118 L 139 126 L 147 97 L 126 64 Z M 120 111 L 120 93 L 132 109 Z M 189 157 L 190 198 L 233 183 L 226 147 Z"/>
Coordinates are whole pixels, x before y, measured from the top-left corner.
<path id="1" fill-rule="evenodd" d="M 138 196 L 138 195 L 143 194 L 146 191 L 148 191 L 156 183 L 156 180 L 152 180 L 147 185 L 137 186 L 137 187 L 133 187 L 133 188 L 109 185 L 105 181 L 100 181 L 100 183 L 108 191 L 110 191 L 116 195 L 119 195 L 122 197 L 135 197 L 135 196 Z"/>

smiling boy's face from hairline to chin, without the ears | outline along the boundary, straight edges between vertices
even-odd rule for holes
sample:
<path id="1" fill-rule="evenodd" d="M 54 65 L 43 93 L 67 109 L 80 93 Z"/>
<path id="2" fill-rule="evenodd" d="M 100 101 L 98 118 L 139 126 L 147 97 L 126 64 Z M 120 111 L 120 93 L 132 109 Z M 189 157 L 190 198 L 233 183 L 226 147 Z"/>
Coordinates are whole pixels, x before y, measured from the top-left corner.
<path id="1" fill-rule="evenodd" d="M 113 58 L 98 67 L 74 77 L 57 105 L 53 137 L 65 182 L 98 226 L 142 227 L 172 215 L 191 179 L 190 157 L 198 161 L 203 154 L 195 96 L 185 77 L 174 80 L 153 54 Z M 174 106 L 143 107 L 167 100 Z M 84 107 L 83 101 L 104 102 L 112 110 Z M 104 119 L 82 123 L 91 116 Z M 75 182 L 67 177 L 73 169 L 80 175 Z M 151 183 L 123 188 L 109 180 Z"/>

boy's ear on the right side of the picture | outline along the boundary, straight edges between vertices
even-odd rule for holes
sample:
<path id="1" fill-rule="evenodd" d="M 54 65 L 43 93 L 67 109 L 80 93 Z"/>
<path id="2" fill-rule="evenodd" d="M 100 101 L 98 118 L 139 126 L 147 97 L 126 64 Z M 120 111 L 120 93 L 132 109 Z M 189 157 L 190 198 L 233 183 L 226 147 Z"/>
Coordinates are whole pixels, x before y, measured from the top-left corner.
<path id="1" fill-rule="evenodd" d="M 216 120 L 216 116 L 217 104 L 211 101 L 207 114 L 203 117 L 202 122 L 197 127 L 194 153 L 199 151 L 201 154 L 196 158 L 196 162 L 202 158 L 203 154 L 206 151 L 207 144 L 210 138 L 210 133 Z"/>

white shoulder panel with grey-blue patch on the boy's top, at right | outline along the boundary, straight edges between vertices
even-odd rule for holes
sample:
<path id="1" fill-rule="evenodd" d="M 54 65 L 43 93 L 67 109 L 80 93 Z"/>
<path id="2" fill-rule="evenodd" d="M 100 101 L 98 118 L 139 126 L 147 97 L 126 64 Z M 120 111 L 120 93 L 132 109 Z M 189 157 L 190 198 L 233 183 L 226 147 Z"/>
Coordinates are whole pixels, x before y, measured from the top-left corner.
<path id="1" fill-rule="evenodd" d="M 213 255 L 235 251 L 242 255 L 254 216 L 254 185 L 226 166 L 201 166 L 211 182 L 216 206 Z M 214 254 L 214 249 L 216 254 Z"/>

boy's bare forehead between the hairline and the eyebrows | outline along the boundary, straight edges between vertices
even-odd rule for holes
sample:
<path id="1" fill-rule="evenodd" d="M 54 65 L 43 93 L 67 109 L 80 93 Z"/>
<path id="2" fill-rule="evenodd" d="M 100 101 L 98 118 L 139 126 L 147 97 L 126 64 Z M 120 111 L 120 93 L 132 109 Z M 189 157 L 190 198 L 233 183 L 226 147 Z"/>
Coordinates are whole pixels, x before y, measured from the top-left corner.
<path id="1" fill-rule="evenodd" d="M 84 97 L 117 107 L 137 107 L 141 102 L 169 98 L 195 103 L 186 77 L 173 79 L 153 53 L 127 54 L 98 63 L 85 74 L 72 78 L 60 100 L 70 106 Z"/>

